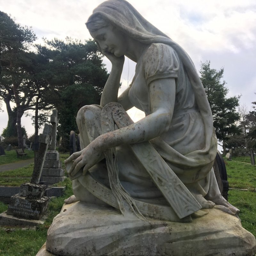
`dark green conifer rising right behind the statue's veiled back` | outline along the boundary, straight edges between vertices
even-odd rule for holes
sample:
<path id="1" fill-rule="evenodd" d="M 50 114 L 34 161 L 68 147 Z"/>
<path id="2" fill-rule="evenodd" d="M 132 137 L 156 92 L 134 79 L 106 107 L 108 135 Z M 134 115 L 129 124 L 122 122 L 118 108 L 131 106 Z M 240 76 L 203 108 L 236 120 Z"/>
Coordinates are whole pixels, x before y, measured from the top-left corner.
<path id="1" fill-rule="evenodd" d="M 216 70 L 210 67 L 210 61 L 201 63 L 200 75 L 213 116 L 213 126 L 219 141 L 223 141 L 223 153 L 226 151 L 228 138 L 240 132 L 236 122 L 239 113 L 239 96 L 227 97 L 228 88 L 223 80 L 224 68 Z"/>

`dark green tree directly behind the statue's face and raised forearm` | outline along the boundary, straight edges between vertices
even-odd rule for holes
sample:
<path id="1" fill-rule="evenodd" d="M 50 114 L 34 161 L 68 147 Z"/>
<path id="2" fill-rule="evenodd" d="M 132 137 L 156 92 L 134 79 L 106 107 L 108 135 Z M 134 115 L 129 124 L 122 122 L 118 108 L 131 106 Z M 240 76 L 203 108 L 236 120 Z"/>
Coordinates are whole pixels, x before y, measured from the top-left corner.
<path id="1" fill-rule="evenodd" d="M 94 41 L 84 44 L 68 37 L 65 41 L 56 38 L 44 41 L 46 46 L 36 45 L 38 54 L 47 60 L 40 66 L 38 76 L 47 84 L 40 90 L 41 101 L 48 108 L 58 110 L 58 132 L 62 144 L 68 145 L 64 140 L 67 142 L 70 131 L 78 132 L 78 110 L 84 105 L 100 103 L 108 73 L 102 64 L 103 55 L 98 52 Z"/>

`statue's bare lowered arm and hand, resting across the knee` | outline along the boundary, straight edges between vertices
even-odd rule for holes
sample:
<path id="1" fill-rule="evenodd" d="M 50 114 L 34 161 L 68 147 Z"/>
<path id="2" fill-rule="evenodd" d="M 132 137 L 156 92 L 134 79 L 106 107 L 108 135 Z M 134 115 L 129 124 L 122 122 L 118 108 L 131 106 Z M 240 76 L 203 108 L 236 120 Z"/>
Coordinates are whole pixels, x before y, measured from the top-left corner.
<path id="1" fill-rule="evenodd" d="M 168 131 L 174 109 L 175 79 L 158 79 L 149 86 L 152 113 L 134 124 L 100 135 L 86 148 L 71 155 L 65 163 L 75 160 L 70 169 L 72 176 L 81 168 L 85 174 L 108 148 L 148 141 Z"/>

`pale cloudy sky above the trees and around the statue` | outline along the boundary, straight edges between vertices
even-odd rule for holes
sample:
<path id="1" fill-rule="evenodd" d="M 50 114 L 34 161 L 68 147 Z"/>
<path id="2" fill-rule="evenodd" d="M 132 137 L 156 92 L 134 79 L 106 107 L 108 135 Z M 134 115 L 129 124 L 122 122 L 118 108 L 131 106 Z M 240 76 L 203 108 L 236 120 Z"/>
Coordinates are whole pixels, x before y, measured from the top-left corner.
<path id="1" fill-rule="evenodd" d="M 85 22 L 102 1 L 81 0 L 0 0 L 0 10 L 10 14 L 22 26 L 31 26 L 36 43 L 66 36 L 91 38 Z M 128 0 L 150 23 L 180 44 L 199 72 L 200 63 L 211 61 L 211 68 L 224 68 L 228 97 L 241 95 L 240 104 L 250 110 L 256 101 L 256 1 L 255 0 Z M 110 71 L 111 63 L 104 58 Z M 125 59 L 120 92 L 128 86 L 135 65 Z M 0 113 L 0 132 L 7 125 L 4 102 Z M 33 114 L 33 113 L 32 113 Z M 134 121 L 143 117 L 140 110 L 129 112 Z M 28 135 L 34 133 L 29 117 L 22 125 Z"/>

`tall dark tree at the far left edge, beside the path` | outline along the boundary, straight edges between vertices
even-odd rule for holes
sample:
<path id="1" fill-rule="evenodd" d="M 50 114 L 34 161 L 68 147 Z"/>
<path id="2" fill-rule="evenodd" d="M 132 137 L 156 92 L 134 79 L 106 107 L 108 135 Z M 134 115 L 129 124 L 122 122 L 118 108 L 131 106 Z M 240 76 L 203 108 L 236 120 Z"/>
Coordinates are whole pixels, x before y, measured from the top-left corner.
<path id="1" fill-rule="evenodd" d="M 9 117 L 6 135 L 14 135 L 17 124 L 19 148 L 23 148 L 21 117 L 33 99 L 28 69 L 33 54 L 29 48 L 35 40 L 31 28 L 20 26 L 6 13 L 0 12 L 0 97 L 6 104 Z M 16 104 L 14 109 L 10 107 L 11 101 Z"/>

